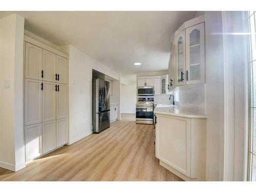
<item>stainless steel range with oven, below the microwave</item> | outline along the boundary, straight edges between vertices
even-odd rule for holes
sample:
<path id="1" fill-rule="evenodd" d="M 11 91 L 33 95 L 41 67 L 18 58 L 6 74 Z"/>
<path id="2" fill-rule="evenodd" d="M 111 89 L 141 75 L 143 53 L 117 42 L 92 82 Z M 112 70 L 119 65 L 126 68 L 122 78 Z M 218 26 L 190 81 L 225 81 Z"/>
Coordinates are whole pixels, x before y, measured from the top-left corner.
<path id="1" fill-rule="evenodd" d="M 136 123 L 154 124 L 154 98 L 138 98 L 136 103 Z"/>

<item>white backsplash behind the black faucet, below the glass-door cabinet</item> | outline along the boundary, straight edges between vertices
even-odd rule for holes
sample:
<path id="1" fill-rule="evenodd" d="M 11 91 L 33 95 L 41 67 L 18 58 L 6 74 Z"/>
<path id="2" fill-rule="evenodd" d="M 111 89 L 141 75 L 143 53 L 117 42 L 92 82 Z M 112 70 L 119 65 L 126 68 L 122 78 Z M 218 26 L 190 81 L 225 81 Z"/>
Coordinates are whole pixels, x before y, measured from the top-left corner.
<path id="1" fill-rule="evenodd" d="M 201 114 L 205 114 L 205 84 L 180 86 L 171 93 L 175 96 L 176 105 L 192 106 Z"/>

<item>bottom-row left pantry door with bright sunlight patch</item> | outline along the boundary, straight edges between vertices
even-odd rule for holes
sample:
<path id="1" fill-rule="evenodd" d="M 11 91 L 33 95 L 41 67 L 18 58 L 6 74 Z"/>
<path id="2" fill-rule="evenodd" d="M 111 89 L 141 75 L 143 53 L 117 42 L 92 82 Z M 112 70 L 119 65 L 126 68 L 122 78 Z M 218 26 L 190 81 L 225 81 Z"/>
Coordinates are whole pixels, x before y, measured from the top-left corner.
<path id="1" fill-rule="evenodd" d="M 25 126 L 26 162 L 42 155 L 42 123 Z"/>

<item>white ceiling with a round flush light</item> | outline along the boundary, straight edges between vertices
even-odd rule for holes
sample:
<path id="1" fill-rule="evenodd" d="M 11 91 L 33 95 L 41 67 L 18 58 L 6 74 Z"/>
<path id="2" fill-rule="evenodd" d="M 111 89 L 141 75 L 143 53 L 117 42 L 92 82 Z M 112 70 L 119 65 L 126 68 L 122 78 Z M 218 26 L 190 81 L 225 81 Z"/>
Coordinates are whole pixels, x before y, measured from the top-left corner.
<path id="1" fill-rule="evenodd" d="M 168 69 L 171 36 L 194 11 L 25 11 L 25 29 L 122 73 Z M 9 13 L 0 13 L 7 15 Z M 134 66 L 133 62 L 141 62 Z"/>

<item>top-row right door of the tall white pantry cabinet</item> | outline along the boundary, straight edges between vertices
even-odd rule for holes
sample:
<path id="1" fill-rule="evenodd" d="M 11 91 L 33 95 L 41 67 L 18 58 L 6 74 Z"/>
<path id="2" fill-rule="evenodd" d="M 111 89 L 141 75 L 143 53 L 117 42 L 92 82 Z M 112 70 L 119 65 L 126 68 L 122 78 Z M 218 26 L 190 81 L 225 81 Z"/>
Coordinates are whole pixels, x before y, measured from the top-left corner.
<path id="1" fill-rule="evenodd" d="M 57 55 L 56 73 L 58 74 L 57 82 L 68 83 L 68 59 Z"/>

